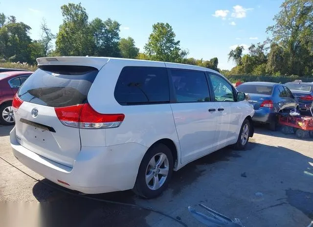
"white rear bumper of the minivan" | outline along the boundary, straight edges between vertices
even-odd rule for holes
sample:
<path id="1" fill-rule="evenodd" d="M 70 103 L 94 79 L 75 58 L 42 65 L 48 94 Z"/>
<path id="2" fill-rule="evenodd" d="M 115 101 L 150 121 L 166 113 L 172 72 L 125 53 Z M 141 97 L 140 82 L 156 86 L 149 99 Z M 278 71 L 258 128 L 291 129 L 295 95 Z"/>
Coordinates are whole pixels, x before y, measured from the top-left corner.
<path id="1" fill-rule="evenodd" d="M 133 189 L 147 150 L 137 143 L 82 147 L 70 168 L 22 147 L 16 139 L 15 128 L 10 132 L 10 141 L 14 156 L 26 167 L 58 185 L 87 194 Z"/>

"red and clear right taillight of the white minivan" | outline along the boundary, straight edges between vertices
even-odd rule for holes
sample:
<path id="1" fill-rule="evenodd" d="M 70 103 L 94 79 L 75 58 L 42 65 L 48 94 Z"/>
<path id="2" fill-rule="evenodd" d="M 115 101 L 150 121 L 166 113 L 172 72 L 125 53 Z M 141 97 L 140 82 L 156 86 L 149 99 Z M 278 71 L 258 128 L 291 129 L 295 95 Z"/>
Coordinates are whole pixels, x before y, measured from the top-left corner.
<path id="1" fill-rule="evenodd" d="M 81 129 L 116 128 L 125 118 L 124 114 L 99 114 L 88 103 L 54 110 L 62 124 Z"/>

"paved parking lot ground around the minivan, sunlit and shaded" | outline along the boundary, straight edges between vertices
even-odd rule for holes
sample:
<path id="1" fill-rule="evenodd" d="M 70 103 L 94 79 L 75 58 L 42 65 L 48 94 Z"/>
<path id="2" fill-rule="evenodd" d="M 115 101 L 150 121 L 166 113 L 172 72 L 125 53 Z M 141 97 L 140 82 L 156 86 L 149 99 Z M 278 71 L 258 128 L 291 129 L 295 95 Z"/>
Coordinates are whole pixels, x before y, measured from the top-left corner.
<path id="1" fill-rule="evenodd" d="M 156 212 L 58 190 L 59 186 L 16 160 L 9 144 L 11 129 L 0 126 L 0 156 L 42 182 L 0 159 L 0 201 L 30 202 L 15 216 L 0 218 L 0 226 L 13 226 L 19 215 L 29 215 L 38 226 L 182 226 Z M 188 211 L 192 206 L 205 213 L 200 203 L 232 219 L 239 218 L 246 227 L 308 226 L 313 219 L 312 139 L 258 127 L 250 142 L 246 151 L 226 148 L 188 164 L 173 174 L 169 189 L 156 199 L 138 198 L 131 190 L 91 196 L 152 207 L 188 227 L 202 226 Z M 103 170 L 103 174 L 110 173 Z M 35 213 L 34 208 L 40 211 Z"/>

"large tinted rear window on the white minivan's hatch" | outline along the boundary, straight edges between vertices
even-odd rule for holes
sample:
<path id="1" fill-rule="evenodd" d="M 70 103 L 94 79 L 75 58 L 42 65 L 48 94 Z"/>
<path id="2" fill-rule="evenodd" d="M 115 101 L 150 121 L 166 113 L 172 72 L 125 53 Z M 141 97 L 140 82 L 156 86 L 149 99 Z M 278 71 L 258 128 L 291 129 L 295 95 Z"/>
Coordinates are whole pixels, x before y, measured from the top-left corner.
<path id="1" fill-rule="evenodd" d="M 87 101 L 98 70 L 88 66 L 40 66 L 21 86 L 18 96 L 26 102 L 65 107 Z"/>

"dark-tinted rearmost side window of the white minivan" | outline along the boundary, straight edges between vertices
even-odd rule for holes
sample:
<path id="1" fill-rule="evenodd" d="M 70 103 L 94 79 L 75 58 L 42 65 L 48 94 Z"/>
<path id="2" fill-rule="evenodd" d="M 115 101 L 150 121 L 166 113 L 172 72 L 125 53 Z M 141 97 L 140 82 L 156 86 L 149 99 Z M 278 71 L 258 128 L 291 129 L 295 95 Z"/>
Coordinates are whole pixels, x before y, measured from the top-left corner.
<path id="1" fill-rule="evenodd" d="M 121 105 L 169 103 L 166 68 L 124 67 L 117 79 L 114 96 Z"/>

